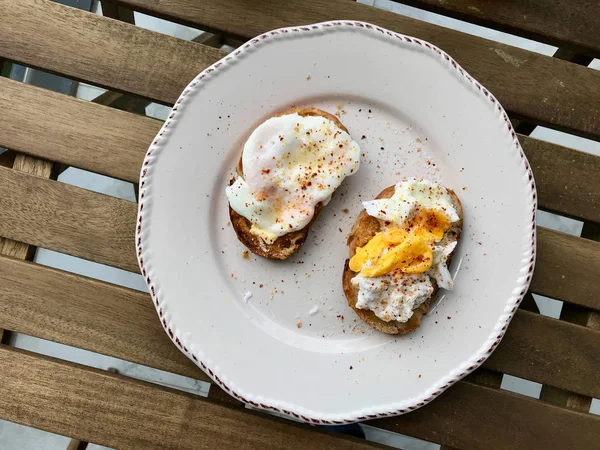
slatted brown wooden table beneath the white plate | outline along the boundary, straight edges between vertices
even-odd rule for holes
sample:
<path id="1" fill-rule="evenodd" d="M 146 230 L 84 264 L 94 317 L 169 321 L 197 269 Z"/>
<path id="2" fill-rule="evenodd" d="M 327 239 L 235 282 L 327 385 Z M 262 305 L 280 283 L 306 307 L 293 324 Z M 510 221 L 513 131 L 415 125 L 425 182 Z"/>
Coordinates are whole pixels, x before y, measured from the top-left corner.
<path id="1" fill-rule="evenodd" d="M 559 50 L 548 57 L 349 0 L 104 1 L 112 19 L 46 0 L 0 0 L 0 64 L 110 90 L 86 102 L 0 78 L 0 146 L 14 152 L 0 167 L 0 328 L 7 330 L 0 418 L 116 448 L 382 447 L 250 412 L 214 385 L 208 399 L 199 398 L 18 350 L 6 339 L 23 333 L 208 381 L 171 344 L 147 294 L 31 262 L 42 247 L 138 271 L 135 203 L 63 184 L 56 174 L 73 166 L 136 183 L 161 124 L 123 109 L 140 110 L 148 100 L 172 104 L 225 54 L 215 48 L 223 42 L 341 17 L 420 37 L 456 58 L 521 132 L 540 208 L 585 222 L 583 237 L 538 229 L 531 292 L 564 301 L 561 320 L 540 315 L 528 294 L 483 369 L 416 412 L 370 424 L 444 448 L 600 448 L 600 417 L 588 413 L 591 397 L 600 397 L 600 158 L 526 136 L 545 125 L 600 138 L 600 71 L 585 67 L 600 57 L 600 7 L 403 3 Z M 144 30 L 132 24 L 131 10 L 213 34 L 198 43 Z M 543 384 L 541 400 L 501 390 L 502 373 Z"/>

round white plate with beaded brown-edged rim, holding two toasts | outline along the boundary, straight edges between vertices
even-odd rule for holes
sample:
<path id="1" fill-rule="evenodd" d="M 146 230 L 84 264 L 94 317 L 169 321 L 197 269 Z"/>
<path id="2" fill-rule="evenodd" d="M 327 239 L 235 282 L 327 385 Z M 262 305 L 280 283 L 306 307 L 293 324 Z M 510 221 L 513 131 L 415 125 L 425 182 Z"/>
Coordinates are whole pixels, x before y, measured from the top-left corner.
<path id="1" fill-rule="evenodd" d="M 292 105 L 338 111 L 362 167 L 299 254 L 245 259 L 225 186 L 251 131 Z M 394 337 L 358 321 L 341 277 L 361 200 L 401 176 L 454 189 L 465 225 L 456 288 Z M 502 107 L 435 46 L 365 23 L 272 31 L 205 70 L 148 150 L 140 184 L 140 266 L 173 341 L 236 398 L 312 423 L 432 400 L 489 356 L 533 270 L 535 186 Z"/>

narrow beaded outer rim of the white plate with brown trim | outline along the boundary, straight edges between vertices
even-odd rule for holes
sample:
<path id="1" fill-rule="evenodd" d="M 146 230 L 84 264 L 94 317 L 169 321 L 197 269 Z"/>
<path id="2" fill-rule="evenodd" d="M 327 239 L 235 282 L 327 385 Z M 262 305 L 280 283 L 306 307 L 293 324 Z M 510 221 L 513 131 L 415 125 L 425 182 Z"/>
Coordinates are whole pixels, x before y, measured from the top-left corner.
<path id="1" fill-rule="evenodd" d="M 526 241 L 526 244 L 524 244 L 524 246 L 527 245 L 527 249 L 524 250 L 522 254 L 523 265 L 519 270 L 519 276 L 516 280 L 516 287 L 513 289 L 511 296 L 507 299 L 504 312 L 498 318 L 494 329 L 475 355 L 473 355 L 468 361 L 463 362 L 459 367 L 452 370 L 446 376 L 437 380 L 431 387 L 426 389 L 424 392 L 420 393 L 415 398 L 404 400 L 402 402 L 398 402 L 392 405 L 377 405 L 371 408 L 365 408 L 363 410 L 358 411 L 348 411 L 346 413 L 331 414 L 307 411 L 305 408 L 299 407 L 294 404 L 290 404 L 288 402 L 282 402 L 273 399 L 263 399 L 259 395 L 236 390 L 232 386 L 232 384 L 227 381 L 229 377 L 221 373 L 219 367 L 217 366 L 217 364 L 215 364 L 214 361 L 202 360 L 202 358 L 199 356 L 199 353 L 202 352 L 197 350 L 197 346 L 194 343 L 187 342 L 188 339 L 184 337 L 185 335 L 181 333 L 181 331 L 178 329 L 177 325 L 173 322 L 173 320 L 171 318 L 167 318 L 167 316 L 169 316 L 169 314 L 167 314 L 168 300 L 165 300 L 165 294 L 160 290 L 156 279 L 152 280 L 150 277 L 150 274 L 153 272 L 153 252 L 151 249 L 149 249 L 147 245 L 145 245 L 146 239 L 144 236 L 148 234 L 145 233 L 145 230 L 148 227 L 148 221 L 145 220 L 145 217 L 152 208 L 151 196 L 145 197 L 145 194 L 151 184 L 152 169 L 154 163 L 157 160 L 157 156 L 160 154 L 161 150 L 164 147 L 163 143 L 167 139 L 165 134 L 168 134 L 169 126 L 171 126 L 175 122 L 179 107 L 185 103 L 186 97 L 189 96 L 196 89 L 198 89 L 199 85 L 203 85 L 210 82 L 210 79 L 212 79 L 212 77 L 215 74 L 217 74 L 219 71 L 225 70 L 232 64 L 235 64 L 235 62 L 239 58 L 245 56 L 249 51 L 252 51 L 258 46 L 264 45 L 265 43 L 269 43 L 274 40 L 281 39 L 283 36 L 286 36 L 289 33 L 309 34 L 312 32 L 332 31 L 337 30 L 339 28 L 361 28 L 364 30 L 368 30 L 367 32 L 373 34 L 383 34 L 388 35 L 392 38 L 397 38 L 398 42 L 402 43 L 402 45 L 418 45 L 427 48 L 434 55 L 437 55 L 438 58 L 441 58 L 443 61 L 445 61 L 448 70 L 455 70 L 456 72 L 460 73 L 463 80 L 475 86 L 479 94 L 484 96 L 494 105 L 495 110 L 497 111 L 496 114 L 498 114 L 504 119 L 506 126 L 505 133 L 511 140 L 509 147 L 512 149 L 512 151 L 516 152 L 517 156 L 520 156 L 522 164 L 524 164 L 525 174 L 527 178 L 524 182 L 524 187 L 527 191 L 526 194 L 529 198 L 529 206 L 531 207 L 531 218 L 528 218 L 526 221 L 527 223 L 525 224 L 527 234 L 524 236 L 524 240 Z M 471 77 L 446 52 L 439 49 L 435 45 L 430 44 L 429 42 L 411 36 L 405 36 L 403 34 L 396 33 L 393 31 L 389 31 L 366 22 L 359 22 L 354 20 L 335 20 L 329 22 L 316 23 L 307 26 L 280 28 L 277 30 L 263 33 L 257 36 L 256 38 L 251 39 L 238 49 L 234 50 L 229 55 L 225 56 L 224 58 L 220 59 L 219 61 L 202 71 L 188 84 L 188 86 L 183 90 L 183 92 L 175 102 L 175 105 L 173 106 L 173 109 L 171 110 L 168 119 L 165 121 L 160 131 L 152 141 L 152 144 L 148 148 L 140 171 L 140 193 L 138 204 L 137 227 L 135 233 L 137 249 L 136 254 L 141 273 L 144 276 L 146 284 L 148 285 L 148 290 L 152 297 L 152 302 L 156 308 L 156 311 L 163 325 L 163 328 L 165 329 L 165 332 L 171 338 L 173 343 L 177 347 L 179 347 L 179 349 L 188 358 L 190 358 L 198 367 L 200 367 L 216 384 L 218 384 L 221 388 L 223 388 L 228 394 L 232 395 L 234 398 L 249 405 L 252 405 L 255 408 L 275 411 L 280 414 L 285 414 L 291 418 L 311 424 L 341 425 L 381 417 L 396 416 L 414 411 L 415 409 L 426 405 L 427 403 L 435 399 L 438 395 L 440 395 L 443 391 L 445 391 L 448 387 L 462 379 L 467 374 L 471 373 L 473 370 L 477 369 L 490 356 L 490 354 L 496 349 L 496 347 L 502 340 L 506 328 L 508 327 L 511 319 L 513 318 L 517 307 L 521 303 L 523 296 L 527 292 L 527 288 L 531 281 L 531 276 L 533 274 L 533 269 L 535 266 L 536 253 L 536 210 L 537 193 L 535 188 L 535 181 L 533 179 L 533 173 L 531 171 L 529 162 L 527 161 L 523 149 L 521 148 L 515 130 L 513 129 L 506 112 L 504 111 L 498 100 L 496 100 L 496 98 L 485 87 L 483 87 L 477 80 Z"/>

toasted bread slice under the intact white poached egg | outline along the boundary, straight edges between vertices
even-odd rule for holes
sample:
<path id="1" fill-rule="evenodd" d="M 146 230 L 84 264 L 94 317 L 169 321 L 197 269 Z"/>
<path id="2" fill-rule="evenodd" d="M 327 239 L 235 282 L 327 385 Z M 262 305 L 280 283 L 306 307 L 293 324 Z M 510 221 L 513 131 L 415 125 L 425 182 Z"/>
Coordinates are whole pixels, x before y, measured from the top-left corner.
<path id="1" fill-rule="evenodd" d="M 326 111 L 322 111 L 317 108 L 292 108 L 282 113 L 275 114 L 273 117 L 284 116 L 286 114 L 298 114 L 302 117 L 307 116 L 321 116 L 326 119 L 331 120 L 335 123 L 339 128 L 348 133 L 346 127 L 340 122 L 340 120 Z M 238 174 L 243 177 L 244 169 L 242 167 L 242 155 L 240 153 L 240 159 L 237 165 Z M 235 178 L 231 180 L 230 184 L 235 182 Z M 310 226 L 314 223 L 319 212 L 323 208 L 321 203 L 317 203 L 315 206 L 315 214 L 310 221 L 310 223 L 301 230 L 292 231 L 291 233 L 284 234 L 283 236 L 278 237 L 272 244 L 267 244 L 260 237 L 252 234 L 250 229 L 252 228 L 252 222 L 246 219 L 244 216 L 235 212 L 231 206 L 229 207 L 229 217 L 231 219 L 231 225 L 235 230 L 235 234 L 242 244 L 248 247 L 252 253 L 255 253 L 259 256 L 264 256 L 265 258 L 270 259 L 286 259 L 292 256 L 294 253 L 300 250 L 304 241 L 306 241 L 306 237 L 308 236 L 308 231 Z"/>

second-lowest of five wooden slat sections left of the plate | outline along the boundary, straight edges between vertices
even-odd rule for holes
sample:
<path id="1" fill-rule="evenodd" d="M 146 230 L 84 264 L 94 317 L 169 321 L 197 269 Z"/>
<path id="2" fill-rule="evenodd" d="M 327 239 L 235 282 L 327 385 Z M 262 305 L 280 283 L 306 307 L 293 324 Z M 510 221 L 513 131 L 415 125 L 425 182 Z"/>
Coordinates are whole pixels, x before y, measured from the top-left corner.
<path id="1" fill-rule="evenodd" d="M 0 327 L 210 381 L 173 345 L 146 293 L 0 257 Z"/>

